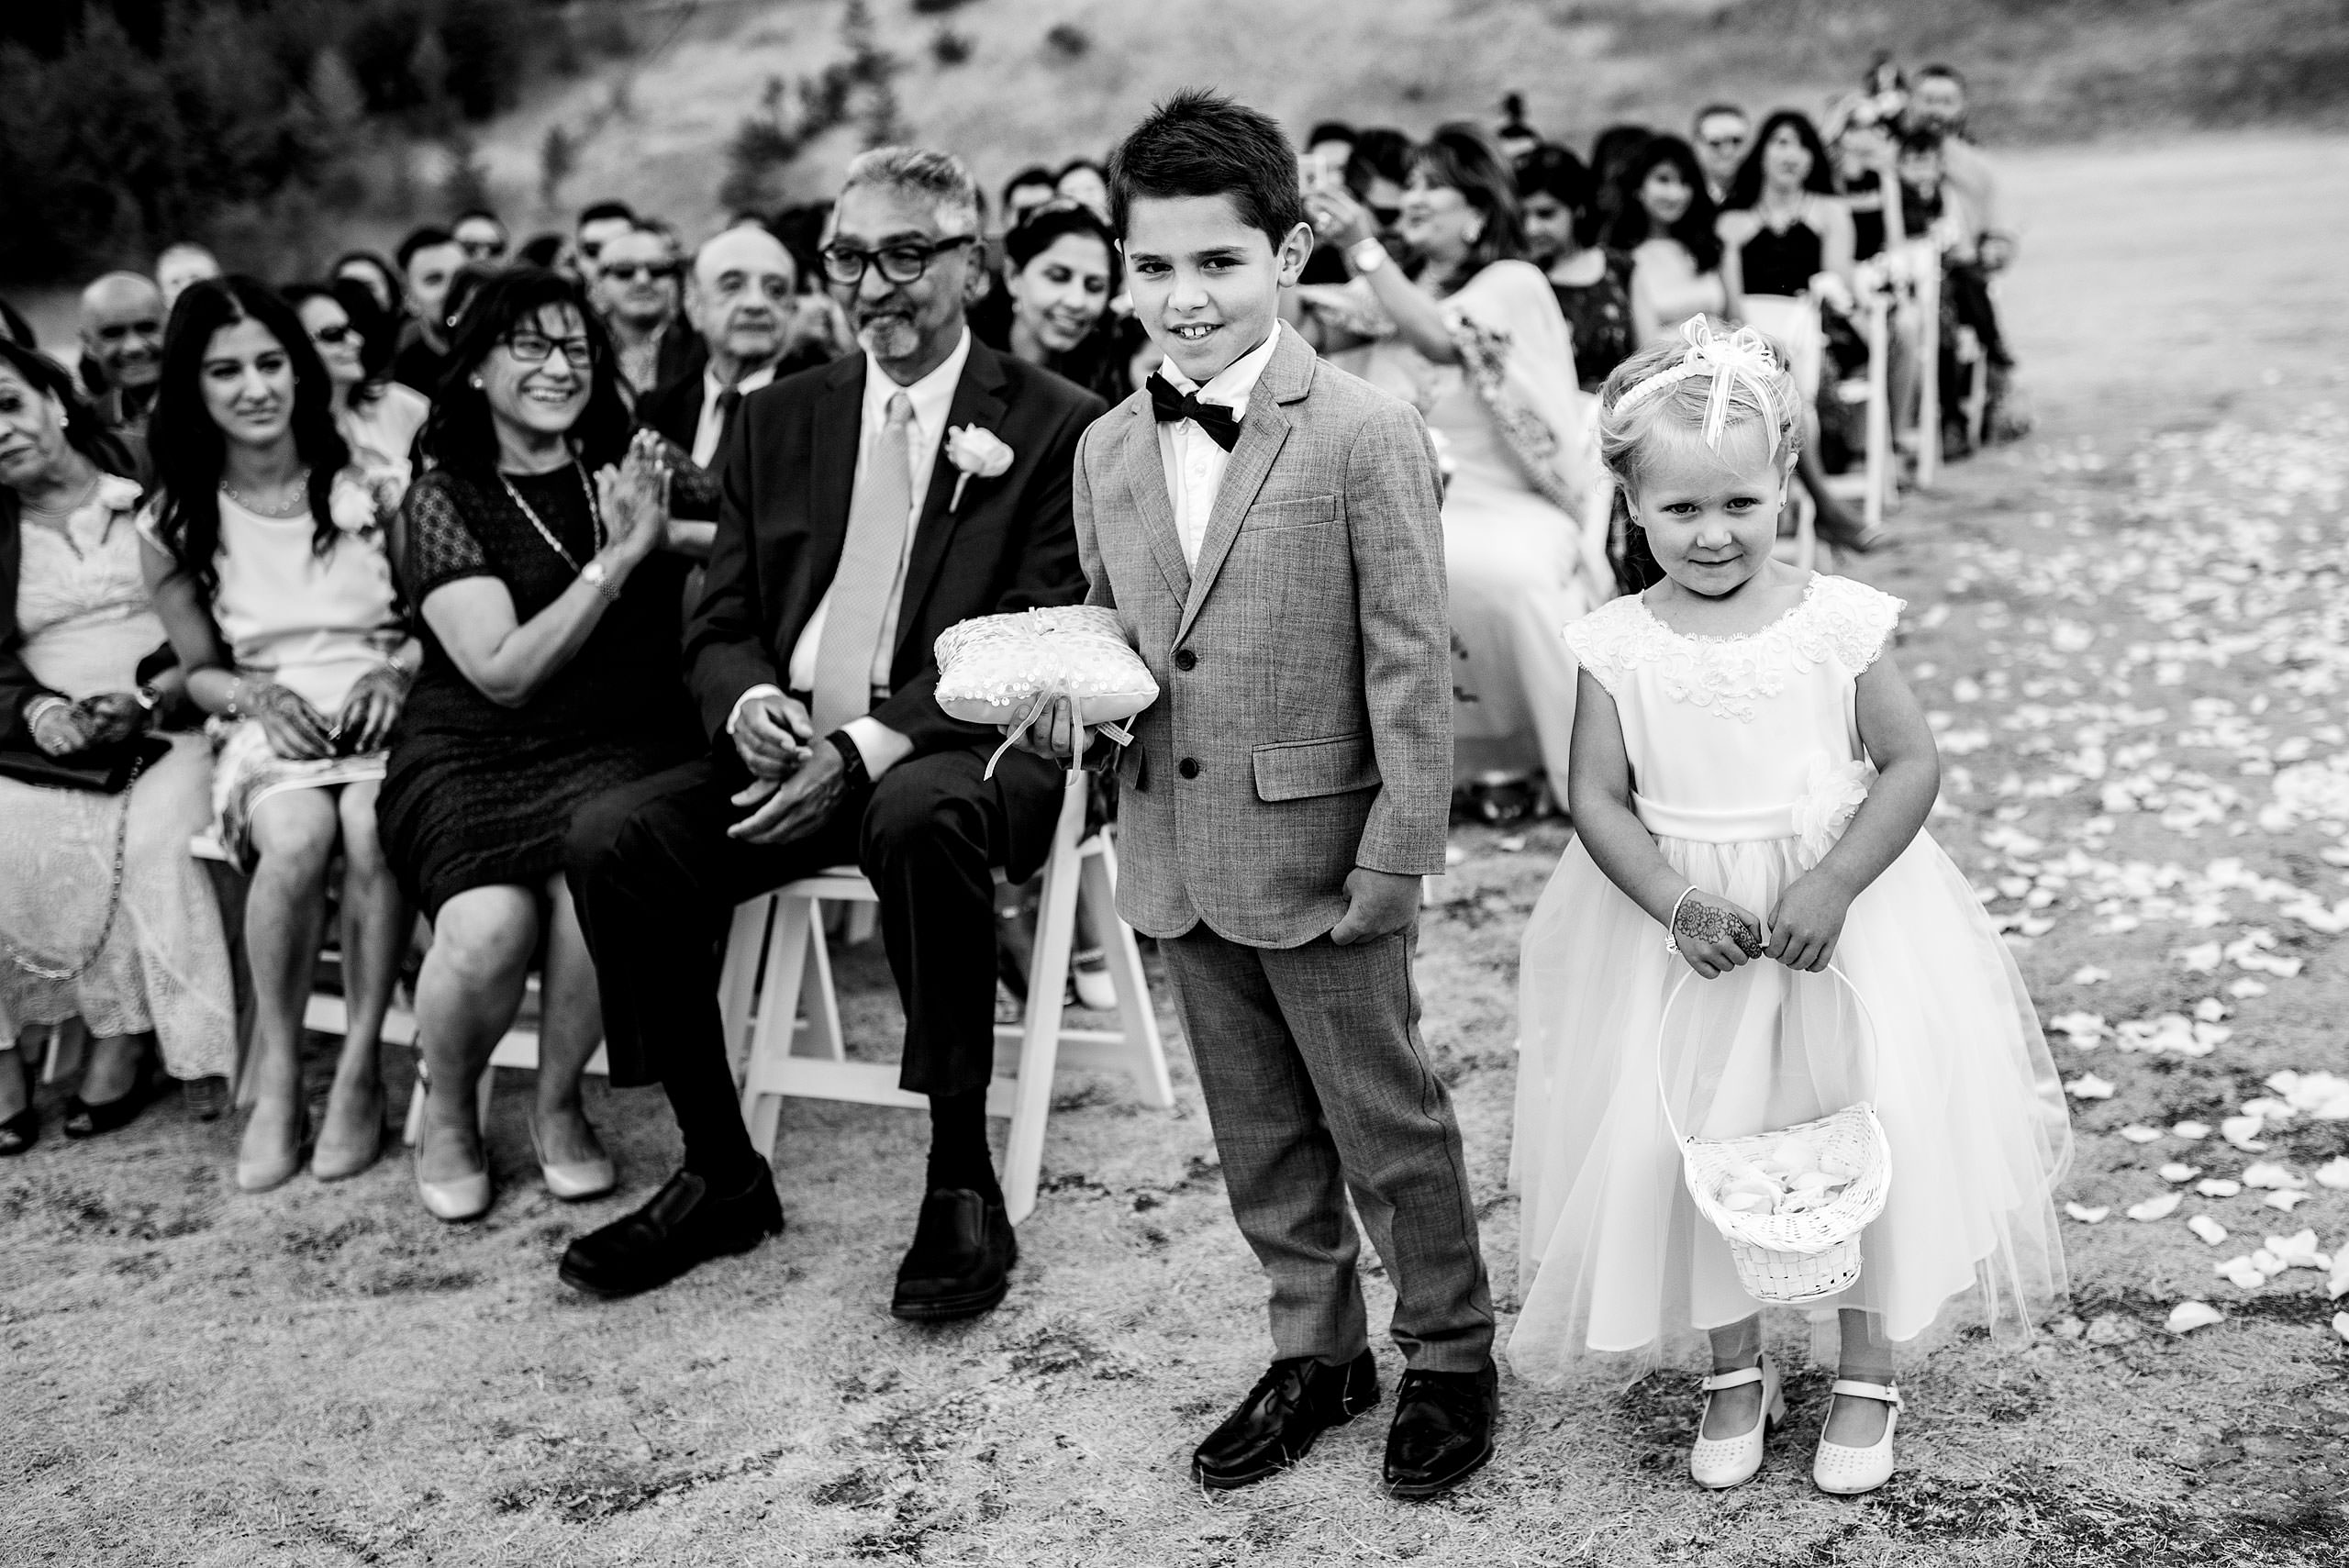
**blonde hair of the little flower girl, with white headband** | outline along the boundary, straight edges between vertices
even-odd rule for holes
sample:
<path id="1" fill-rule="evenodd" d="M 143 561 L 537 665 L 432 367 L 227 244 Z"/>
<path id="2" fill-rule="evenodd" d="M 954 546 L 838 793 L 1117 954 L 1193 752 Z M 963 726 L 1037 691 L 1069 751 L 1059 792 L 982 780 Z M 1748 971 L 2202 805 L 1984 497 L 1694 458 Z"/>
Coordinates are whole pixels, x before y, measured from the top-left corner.
<path id="1" fill-rule="evenodd" d="M 1698 324 L 1703 331 L 1696 331 Z M 1663 462 L 1705 453 L 1722 467 L 1752 467 L 1776 458 L 1778 472 L 1788 474 L 1802 451 L 1802 392 L 1795 385 L 1792 361 L 1776 338 L 1752 329 L 1741 329 L 1738 336 L 1759 343 L 1764 354 L 1750 373 L 1727 378 L 1717 444 L 1705 439 L 1715 385 L 1710 371 L 1689 373 L 1661 390 L 1633 397 L 1658 376 L 1670 376 L 1689 364 L 1696 354 L 1696 338 L 1715 333 L 1727 340 L 1729 326 L 1712 317 L 1698 317 L 1684 329 L 1687 340 L 1640 350 L 1618 364 L 1607 376 L 1607 385 L 1600 387 L 1600 460 L 1614 479 L 1607 554 L 1616 563 L 1616 582 L 1626 594 L 1637 594 L 1663 575 L 1647 549 L 1647 530 L 1630 512 L 1630 498 Z"/>

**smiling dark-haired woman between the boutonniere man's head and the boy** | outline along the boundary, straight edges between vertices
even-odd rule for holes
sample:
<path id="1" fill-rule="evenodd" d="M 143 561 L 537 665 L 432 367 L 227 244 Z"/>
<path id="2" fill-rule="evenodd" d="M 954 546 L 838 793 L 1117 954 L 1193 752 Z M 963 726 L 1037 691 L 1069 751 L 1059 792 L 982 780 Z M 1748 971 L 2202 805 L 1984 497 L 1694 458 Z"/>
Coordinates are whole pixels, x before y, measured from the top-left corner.
<path id="1" fill-rule="evenodd" d="M 972 307 L 970 331 L 1102 401 L 1125 399 L 1135 387 L 1125 376 L 1128 347 L 1109 319 L 1116 293 L 1109 223 L 1090 207 L 1052 202 L 1003 235 L 1003 305 Z"/>

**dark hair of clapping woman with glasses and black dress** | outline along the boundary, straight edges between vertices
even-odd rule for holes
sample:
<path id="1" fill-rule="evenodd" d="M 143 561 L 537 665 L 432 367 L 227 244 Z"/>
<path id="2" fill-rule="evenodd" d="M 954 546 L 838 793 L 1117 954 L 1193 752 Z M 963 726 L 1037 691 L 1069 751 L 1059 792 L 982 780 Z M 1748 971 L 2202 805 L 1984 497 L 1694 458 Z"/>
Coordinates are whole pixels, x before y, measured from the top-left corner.
<path id="1" fill-rule="evenodd" d="M 536 326 L 538 312 L 550 305 L 576 310 L 587 333 L 587 406 L 571 427 L 571 451 L 590 472 L 627 455 L 632 420 L 627 399 L 620 397 L 620 357 L 604 322 L 587 307 L 587 291 L 547 268 L 507 268 L 472 291 L 449 331 L 449 376 L 416 437 L 425 462 L 496 481 L 498 423 L 489 413 L 489 397 L 472 385 L 472 373 L 517 326 Z"/>

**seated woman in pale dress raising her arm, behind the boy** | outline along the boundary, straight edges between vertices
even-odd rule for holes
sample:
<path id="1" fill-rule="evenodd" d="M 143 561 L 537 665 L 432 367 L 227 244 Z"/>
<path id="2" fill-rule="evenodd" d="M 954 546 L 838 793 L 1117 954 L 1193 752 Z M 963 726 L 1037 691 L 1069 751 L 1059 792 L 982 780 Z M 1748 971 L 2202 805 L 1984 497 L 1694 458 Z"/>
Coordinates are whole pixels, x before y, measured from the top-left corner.
<path id="1" fill-rule="evenodd" d="M 1344 192 L 1308 192 L 1306 207 L 1393 322 L 1369 380 L 1445 439 L 1454 782 L 1522 798 L 1546 777 L 1564 800 L 1574 664 L 1557 629 L 1609 599 L 1614 575 L 1595 427 L 1557 296 L 1525 261 L 1517 183 L 1482 129 L 1438 127 L 1402 195 L 1416 277 Z"/>

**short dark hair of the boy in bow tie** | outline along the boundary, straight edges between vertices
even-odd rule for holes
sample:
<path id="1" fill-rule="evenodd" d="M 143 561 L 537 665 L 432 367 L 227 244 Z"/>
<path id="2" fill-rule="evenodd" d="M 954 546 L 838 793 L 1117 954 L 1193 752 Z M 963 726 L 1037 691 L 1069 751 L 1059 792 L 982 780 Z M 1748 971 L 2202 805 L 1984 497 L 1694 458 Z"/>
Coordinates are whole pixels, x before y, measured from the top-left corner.
<path id="1" fill-rule="evenodd" d="M 1144 115 L 1109 155 L 1109 216 L 1125 237 L 1135 197 L 1231 197 L 1273 249 L 1306 221 L 1297 148 L 1271 115 L 1186 87 Z"/>

